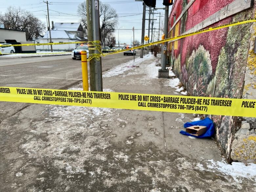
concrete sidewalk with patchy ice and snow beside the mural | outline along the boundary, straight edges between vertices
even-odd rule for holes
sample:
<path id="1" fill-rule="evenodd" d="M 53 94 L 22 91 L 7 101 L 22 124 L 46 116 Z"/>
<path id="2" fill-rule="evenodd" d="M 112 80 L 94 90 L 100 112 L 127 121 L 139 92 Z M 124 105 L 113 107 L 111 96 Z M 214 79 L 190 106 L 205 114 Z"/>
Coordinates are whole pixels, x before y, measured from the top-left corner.
<path id="1" fill-rule="evenodd" d="M 181 95 L 152 55 L 103 74 L 104 91 Z M 82 90 L 78 84 L 71 89 Z M 182 92 L 185 94 L 185 92 Z M 0 191 L 253 191 L 255 164 L 225 164 L 192 114 L 33 104 L 0 124 Z"/>

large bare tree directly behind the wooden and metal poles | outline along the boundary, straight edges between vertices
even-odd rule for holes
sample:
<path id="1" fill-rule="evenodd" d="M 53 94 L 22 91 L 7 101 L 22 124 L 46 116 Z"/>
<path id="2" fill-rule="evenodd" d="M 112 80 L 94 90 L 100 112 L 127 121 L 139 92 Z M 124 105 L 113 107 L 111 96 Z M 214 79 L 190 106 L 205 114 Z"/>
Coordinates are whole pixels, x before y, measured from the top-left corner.
<path id="1" fill-rule="evenodd" d="M 87 36 L 87 11 L 86 11 L 85 1 L 78 6 L 77 14 L 81 17 L 81 23 L 84 27 L 85 36 Z M 117 12 L 109 4 L 100 2 L 99 16 L 100 16 L 101 38 L 103 43 L 104 40 L 107 38 L 107 35 L 115 31 L 115 27 L 118 24 Z"/>

